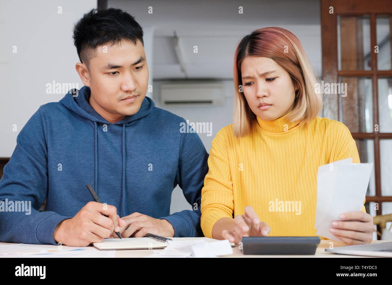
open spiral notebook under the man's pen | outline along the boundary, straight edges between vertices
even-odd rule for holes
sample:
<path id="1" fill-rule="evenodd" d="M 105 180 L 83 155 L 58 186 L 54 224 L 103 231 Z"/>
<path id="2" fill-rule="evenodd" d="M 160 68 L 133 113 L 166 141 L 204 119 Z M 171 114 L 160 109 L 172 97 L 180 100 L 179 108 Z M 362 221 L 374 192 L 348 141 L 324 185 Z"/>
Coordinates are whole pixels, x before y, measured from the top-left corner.
<path id="1" fill-rule="evenodd" d="M 156 249 L 165 248 L 169 237 L 146 234 L 144 237 L 128 237 L 121 239 L 104 239 L 102 243 L 93 243 L 99 250 L 121 250 L 121 249 Z"/>

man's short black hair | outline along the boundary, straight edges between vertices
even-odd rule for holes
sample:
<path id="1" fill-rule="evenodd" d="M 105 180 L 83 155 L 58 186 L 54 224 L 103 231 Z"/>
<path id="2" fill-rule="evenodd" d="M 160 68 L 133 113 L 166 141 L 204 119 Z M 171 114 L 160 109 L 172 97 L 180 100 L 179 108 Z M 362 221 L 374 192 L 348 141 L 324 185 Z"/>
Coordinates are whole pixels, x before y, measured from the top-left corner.
<path id="1" fill-rule="evenodd" d="M 90 59 L 95 57 L 95 49 L 108 42 L 113 46 L 122 39 L 142 42 L 143 29 L 135 18 L 126 11 L 115 8 L 91 9 L 75 24 L 74 45 L 81 63 L 89 69 Z"/>

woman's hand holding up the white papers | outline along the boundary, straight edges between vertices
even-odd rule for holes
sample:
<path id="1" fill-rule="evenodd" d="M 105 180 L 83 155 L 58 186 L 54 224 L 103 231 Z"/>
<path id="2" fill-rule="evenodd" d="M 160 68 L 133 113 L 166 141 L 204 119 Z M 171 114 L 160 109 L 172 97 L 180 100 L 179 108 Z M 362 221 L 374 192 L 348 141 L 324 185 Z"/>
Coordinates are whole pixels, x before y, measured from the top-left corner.
<path id="1" fill-rule="evenodd" d="M 373 232 L 376 230 L 371 215 L 363 211 L 349 212 L 339 215 L 339 219 L 343 221 L 332 222 L 332 228 L 329 229 L 331 234 L 348 245 L 370 243 Z"/>

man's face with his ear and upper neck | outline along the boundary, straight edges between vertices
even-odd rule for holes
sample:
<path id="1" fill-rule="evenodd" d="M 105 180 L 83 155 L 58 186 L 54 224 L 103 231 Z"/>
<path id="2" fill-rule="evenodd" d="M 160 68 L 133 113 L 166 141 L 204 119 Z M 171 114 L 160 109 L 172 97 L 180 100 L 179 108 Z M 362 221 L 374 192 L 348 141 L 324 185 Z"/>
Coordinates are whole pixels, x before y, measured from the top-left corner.
<path id="1" fill-rule="evenodd" d="M 91 88 L 91 107 L 114 123 L 139 111 L 147 93 L 149 71 L 139 40 L 136 45 L 129 40 L 110 45 L 96 48 L 86 74 L 88 80 L 83 83 Z M 125 99 L 128 96 L 131 99 Z"/>

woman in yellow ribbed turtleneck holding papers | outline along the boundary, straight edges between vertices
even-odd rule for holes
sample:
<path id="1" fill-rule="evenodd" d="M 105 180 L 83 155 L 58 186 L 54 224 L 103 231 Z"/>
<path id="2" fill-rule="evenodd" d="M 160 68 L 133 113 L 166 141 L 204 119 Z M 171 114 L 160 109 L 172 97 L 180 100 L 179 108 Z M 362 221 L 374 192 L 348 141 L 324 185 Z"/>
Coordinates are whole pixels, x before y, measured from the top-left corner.
<path id="1" fill-rule="evenodd" d="M 234 123 L 212 142 L 201 191 L 206 237 L 238 244 L 244 236 L 316 235 L 318 167 L 350 157 L 359 163 L 359 156 L 343 123 L 318 117 L 315 83 L 301 43 L 286 29 L 258 29 L 240 41 Z M 279 211 L 280 201 L 291 211 Z M 375 229 L 365 206 L 342 214 L 330 232 L 349 245 L 370 243 Z"/>

